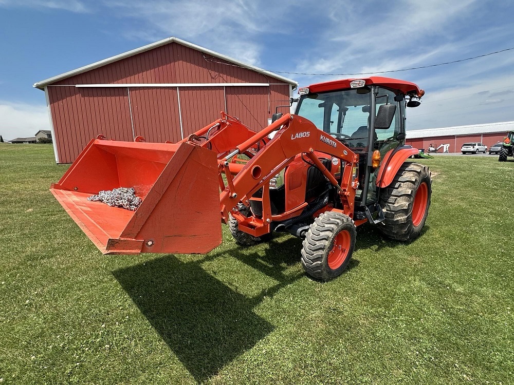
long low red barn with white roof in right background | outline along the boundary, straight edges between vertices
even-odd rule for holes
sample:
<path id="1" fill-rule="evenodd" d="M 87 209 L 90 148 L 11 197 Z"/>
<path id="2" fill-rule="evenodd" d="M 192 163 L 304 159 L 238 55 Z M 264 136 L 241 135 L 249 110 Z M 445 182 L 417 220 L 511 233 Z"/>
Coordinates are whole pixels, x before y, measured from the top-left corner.
<path id="1" fill-rule="evenodd" d="M 493 144 L 503 141 L 507 131 L 512 129 L 514 129 L 514 122 L 409 130 L 406 144 L 415 148 L 424 148 L 425 151 L 428 150 L 430 144 L 433 144 L 435 148 L 442 144 L 449 144 L 449 152 L 461 152 L 464 143 L 479 142 L 485 144 L 489 149 Z M 439 152 L 443 152 L 443 149 L 439 149 Z"/>

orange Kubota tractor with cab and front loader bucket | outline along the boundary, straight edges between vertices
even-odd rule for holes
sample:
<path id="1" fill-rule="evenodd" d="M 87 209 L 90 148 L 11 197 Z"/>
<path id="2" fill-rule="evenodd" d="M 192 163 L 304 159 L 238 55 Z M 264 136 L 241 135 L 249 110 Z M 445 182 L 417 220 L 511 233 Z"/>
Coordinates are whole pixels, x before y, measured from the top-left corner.
<path id="1" fill-rule="evenodd" d="M 299 94 L 295 114 L 260 132 L 222 113 L 178 143 L 99 136 L 50 190 L 104 254 L 208 253 L 221 219 L 242 245 L 303 238 L 305 271 L 325 281 L 344 271 L 359 225 L 415 239 L 432 188 L 428 167 L 407 161 L 419 151 L 405 145 L 405 110 L 424 91 L 374 76 Z M 137 208 L 88 200 L 119 187 L 134 189 Z"/>

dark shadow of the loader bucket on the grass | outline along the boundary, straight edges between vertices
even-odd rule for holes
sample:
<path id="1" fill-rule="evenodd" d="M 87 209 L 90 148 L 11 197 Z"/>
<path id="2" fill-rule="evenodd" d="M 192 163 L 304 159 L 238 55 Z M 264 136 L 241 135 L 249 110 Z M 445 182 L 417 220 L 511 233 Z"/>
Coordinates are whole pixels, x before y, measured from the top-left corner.
<path id="1" fill-rule="evenodd" d="M 274 329 L 253 312 L 255 299 L 173 255 L 113 272 L 164 342 L 199 382 Z"/>

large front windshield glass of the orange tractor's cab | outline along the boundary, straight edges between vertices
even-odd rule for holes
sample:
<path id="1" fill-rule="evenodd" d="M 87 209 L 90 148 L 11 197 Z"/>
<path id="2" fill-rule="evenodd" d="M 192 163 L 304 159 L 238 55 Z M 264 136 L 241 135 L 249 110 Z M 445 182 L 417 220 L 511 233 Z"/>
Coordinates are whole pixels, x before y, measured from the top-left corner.
<path id="1" fill-rule="evenodd" d="M 342 141 L 352 149 L 368 146 L 371 92 L 365 89 L 331 91 L 305 95 L 300 99 L 297 115 Z"/>

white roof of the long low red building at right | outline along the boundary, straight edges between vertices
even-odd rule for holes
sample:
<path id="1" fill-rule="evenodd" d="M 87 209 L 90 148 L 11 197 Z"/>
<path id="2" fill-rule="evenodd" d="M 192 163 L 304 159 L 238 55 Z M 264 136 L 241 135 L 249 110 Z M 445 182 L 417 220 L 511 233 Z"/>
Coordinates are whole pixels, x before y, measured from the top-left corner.
<path id="1" fill-rule="evenodd" d="M 514 129 L 514 122 L 498 122 L 485 124 L 472 124 L 467 126 L 454 126 L 444 128 L 426 128 L 423 130 L 408 130 L 407 138 L 432 138 L 446 136 L 460 136 L 480 133 L 507 132 Z"/>

